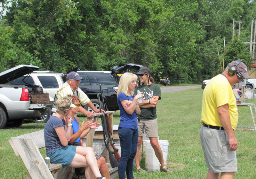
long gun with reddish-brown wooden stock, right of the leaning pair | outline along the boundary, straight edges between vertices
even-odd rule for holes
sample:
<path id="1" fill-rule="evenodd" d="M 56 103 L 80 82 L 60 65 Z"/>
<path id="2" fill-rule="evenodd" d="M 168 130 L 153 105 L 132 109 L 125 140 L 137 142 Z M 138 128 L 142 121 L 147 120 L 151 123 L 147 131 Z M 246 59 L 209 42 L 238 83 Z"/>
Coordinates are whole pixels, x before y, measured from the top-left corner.
<path id="1" fill-rule="evenodd" d="M 101 101 L 103 103 L 103 106 L 105 107 L 101 84 L 100 84 L 100 95 L 101 95 Z M 107 109 L 107 108 L 105 107 L 105 109 Z M 109 119 L 109 114 L 105 114 L 105 116 L 106 116 L 107 129 L 108 129 L 108 140 L 109 140 L 109 143 L 110 143 L 110 145 L 112 146 L 112 148 L 114 150 L 114 156 L 116 158 L 116 161 L 119 162 L 120 155 L 118 153 L 118 148 L 116 148 L 116 146 L 115 146 L 115 140 L 113 139 L 113 135 L 112 135 L 113 130 L 112 130 L 112 124 L 111 124 L 110 119 Z"/>

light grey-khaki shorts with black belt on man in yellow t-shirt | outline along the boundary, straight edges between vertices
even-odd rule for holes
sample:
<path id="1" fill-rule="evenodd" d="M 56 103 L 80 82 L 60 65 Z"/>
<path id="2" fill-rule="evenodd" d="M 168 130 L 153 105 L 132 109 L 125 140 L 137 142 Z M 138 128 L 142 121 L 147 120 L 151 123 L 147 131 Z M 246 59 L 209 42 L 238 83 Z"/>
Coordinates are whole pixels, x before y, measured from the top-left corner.
<path id="1" fill-rule="evenodd" d="M 201 145 L 207 168 L 213 173 L 236 172 L 236 151 L 230 151 L 228 135 L 224 130 L 201 127 Z"/>

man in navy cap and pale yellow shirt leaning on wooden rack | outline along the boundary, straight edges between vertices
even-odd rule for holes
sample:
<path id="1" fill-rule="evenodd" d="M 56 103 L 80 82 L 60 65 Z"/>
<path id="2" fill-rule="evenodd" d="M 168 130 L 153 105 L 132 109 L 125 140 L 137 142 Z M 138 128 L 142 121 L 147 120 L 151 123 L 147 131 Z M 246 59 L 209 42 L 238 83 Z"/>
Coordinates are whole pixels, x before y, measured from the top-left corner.
<path id="1" fill-rule="evenodd" d="M 89 106 L 95 113 L 99 113 L 100 109 L 96 109 L 95 106 L 92 104 L 92 101 L 87 97 L 87 95 L 79 88 L 80 81 L 83 78 L 76 72 L 71 72 L 67 75 L 67 82 L 65 82 L 58 92 L 55 94 L 52 106 L 52 113 L 55 113 L 57 110 L 56 101 L 63 96 L 67 95 L 75 95 L 79 97 L 80 102 L 82 105 Z M 79 109 L 79 112 L 84 113 L 88 119 L 92 118 L 93 113 L 90 111 L 86 111 L 83 107 Z M 102 109 L 102 112 L 105 111 Z"/>

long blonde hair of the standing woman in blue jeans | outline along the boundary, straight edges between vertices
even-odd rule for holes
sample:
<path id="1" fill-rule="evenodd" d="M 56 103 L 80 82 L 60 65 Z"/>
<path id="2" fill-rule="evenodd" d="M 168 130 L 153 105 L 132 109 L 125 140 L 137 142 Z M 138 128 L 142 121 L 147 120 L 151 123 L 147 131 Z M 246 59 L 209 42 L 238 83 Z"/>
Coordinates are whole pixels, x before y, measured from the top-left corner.
<path id="1" fill-rule="evenodd" d="M 117 90 L 117 96 L 120 92 L 123 92 L 126 96 L 128 95 L 128 85 L 131 81 L 137 80 L 137 75 L 132 73 L 124 73 L 119 81 L 118 90 Z M 131 94 L 133 95 L 133 91 L 131 91 Z"/>

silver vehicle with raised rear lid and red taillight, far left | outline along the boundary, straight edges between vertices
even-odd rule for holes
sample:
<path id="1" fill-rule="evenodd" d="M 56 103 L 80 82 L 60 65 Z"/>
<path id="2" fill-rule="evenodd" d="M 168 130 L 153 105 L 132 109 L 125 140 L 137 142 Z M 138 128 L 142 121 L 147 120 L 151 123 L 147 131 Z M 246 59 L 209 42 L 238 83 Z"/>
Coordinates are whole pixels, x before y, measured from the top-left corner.
<path id="1" fill-rule="evenodd" d="M 31 94 L 40 96 L 42 87 L 11 82 L 37 69 L 39 67 L 33 65 L 19 65 L 0 73 L 0 128 L 6 124 L 19 127 L 25 119 L 40 118 L 47 112 L 47 103 L 31 103 Z M 36 101 L 35 95 L 33 100 Z"/>

